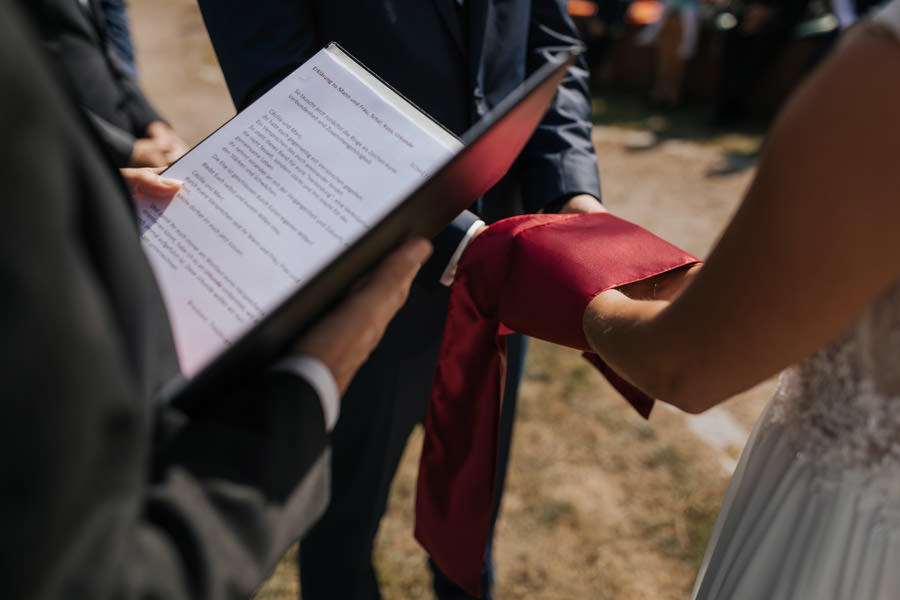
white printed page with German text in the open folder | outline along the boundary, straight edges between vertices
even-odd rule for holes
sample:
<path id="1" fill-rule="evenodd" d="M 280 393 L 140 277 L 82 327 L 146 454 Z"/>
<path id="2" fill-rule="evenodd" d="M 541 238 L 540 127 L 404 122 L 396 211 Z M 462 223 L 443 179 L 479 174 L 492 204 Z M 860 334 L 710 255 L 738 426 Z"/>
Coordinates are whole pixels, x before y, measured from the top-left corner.
<path id="1" fill-rule="evenodd" d="M 459 149 L 396 110 L 325 50 L 139 199 L 141 239 L 193 376 Z"/>

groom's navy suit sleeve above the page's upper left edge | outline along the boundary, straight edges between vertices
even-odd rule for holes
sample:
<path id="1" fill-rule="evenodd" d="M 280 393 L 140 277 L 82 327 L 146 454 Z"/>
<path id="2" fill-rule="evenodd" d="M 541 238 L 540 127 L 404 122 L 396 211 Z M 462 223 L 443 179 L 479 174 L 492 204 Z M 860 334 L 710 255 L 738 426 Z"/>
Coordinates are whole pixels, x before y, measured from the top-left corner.
<path id="1" fill-rule="evenodd" d="M 198 0 L 238 110 L 321 46 L 309 0 Z"/>

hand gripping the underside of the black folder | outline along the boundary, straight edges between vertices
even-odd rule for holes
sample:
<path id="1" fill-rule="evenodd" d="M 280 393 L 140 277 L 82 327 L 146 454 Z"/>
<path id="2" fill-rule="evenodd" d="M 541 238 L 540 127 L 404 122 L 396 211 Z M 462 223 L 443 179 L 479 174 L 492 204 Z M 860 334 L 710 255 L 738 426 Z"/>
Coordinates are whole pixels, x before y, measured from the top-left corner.
<path id="1" fill-rule="evenodd" d="M 403 306 L 413 277 L 429 254 L 427 240 L 417 238 L 403 244 L 298 340 L 293 351 L 322 361 L 343 394 Z"/>

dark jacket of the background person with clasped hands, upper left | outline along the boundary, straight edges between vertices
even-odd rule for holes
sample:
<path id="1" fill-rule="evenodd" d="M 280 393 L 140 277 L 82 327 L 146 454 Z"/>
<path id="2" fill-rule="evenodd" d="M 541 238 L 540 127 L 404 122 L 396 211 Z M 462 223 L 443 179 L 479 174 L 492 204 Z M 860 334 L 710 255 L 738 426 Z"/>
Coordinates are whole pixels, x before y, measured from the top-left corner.
<path id="1" fill-rule="evenodd" d="M 95 0 L 90 0 L 93 3 Z M 70 80 L 117 166 L 131 158 L 137 138 L 162 118 L 132 79 L 106 35 L 102 11 L 78 0 L 20 0 L 44 48 Z"/>

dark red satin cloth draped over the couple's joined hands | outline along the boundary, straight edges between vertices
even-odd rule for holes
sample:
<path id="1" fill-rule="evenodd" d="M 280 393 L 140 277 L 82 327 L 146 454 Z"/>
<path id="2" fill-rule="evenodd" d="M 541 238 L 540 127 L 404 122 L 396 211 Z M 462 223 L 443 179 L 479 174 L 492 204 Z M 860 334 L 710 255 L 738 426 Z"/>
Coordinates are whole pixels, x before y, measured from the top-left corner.
<path id="1" fill-rule="evenodd" d="M 478 236 L 460 261 L 435 371 L 416 489 L 416 539 L 461 588 L 481 596 L 490 535 L 505 335 L 585 356 L 645 417 L 653 400 L 605 366 L 581 327 L 600 292 L 698 262 L 607 213 L 524 215 Z"/>

